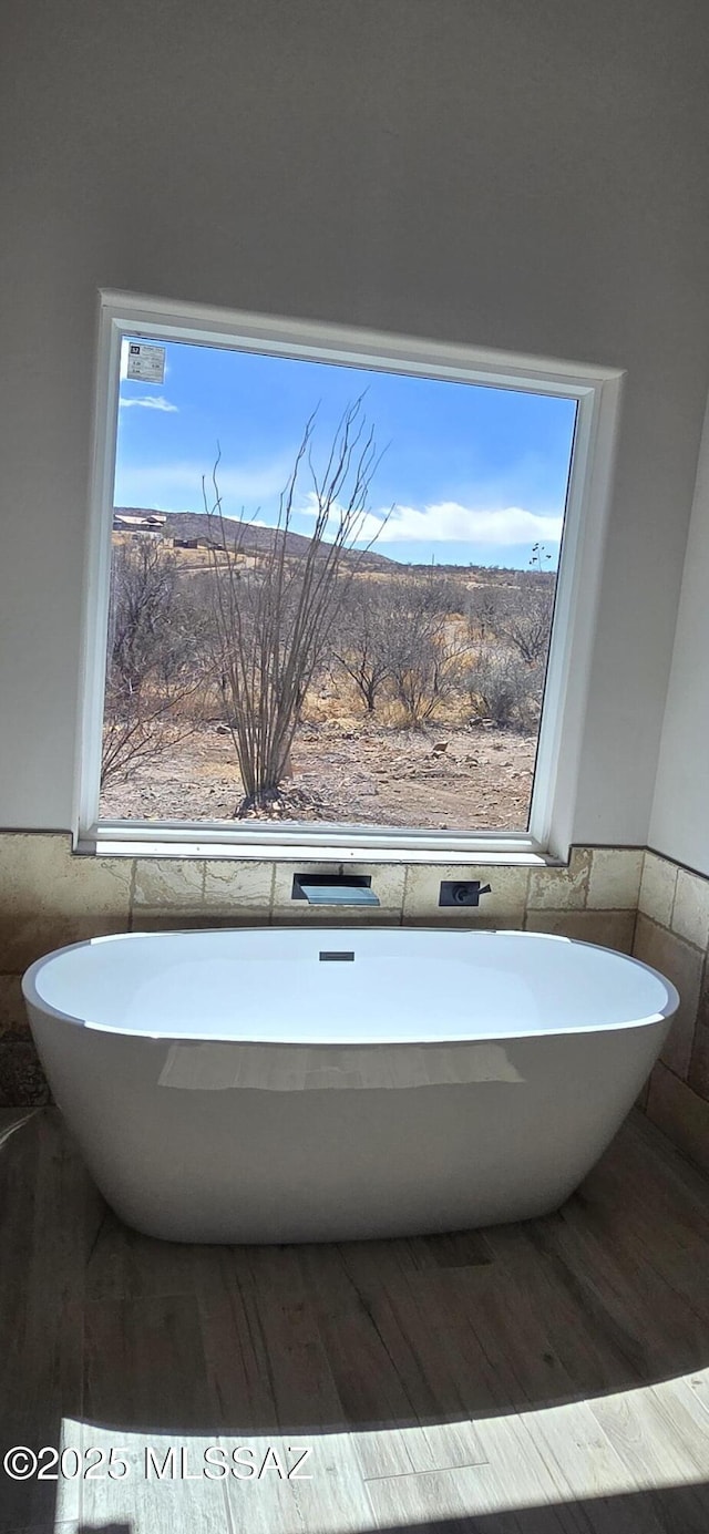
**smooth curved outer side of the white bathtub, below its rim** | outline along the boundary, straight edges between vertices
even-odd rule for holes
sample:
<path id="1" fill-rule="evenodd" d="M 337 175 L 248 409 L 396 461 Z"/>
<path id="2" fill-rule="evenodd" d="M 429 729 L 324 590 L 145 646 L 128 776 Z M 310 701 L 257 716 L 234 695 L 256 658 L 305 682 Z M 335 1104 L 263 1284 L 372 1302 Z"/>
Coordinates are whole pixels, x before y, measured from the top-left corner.
<path id="1" fill-rule="evenodd" d="M 411 1077 L 410 1062 L 379 1086 L 351 1085 L 351 1062 L 333 1085 L 335 1045 L 312 1058 L 310 1085 L 293 1068 L 299 1046 L 282 1045 L 262 1048 L 250 1085 L 233 1085 L 246 1046 L 221 1043 L 204 1085 L 209 1045 L 31 1014 L 55 1098 L 107 1201 L 149 1235 L 209 1243 L 362 1239 L 548 1213 L 614 1137 L 671 1023 L 505 1040 L 497 1068 L 483 1042 L 454 1045 L 448 1080 L 439 1054 L 430 1080 L 420 1062 Z M 362 1048 L 365 1081 L 379 1054 Z M 295 1085 L 273 1088 L 275 1077 Z"/>

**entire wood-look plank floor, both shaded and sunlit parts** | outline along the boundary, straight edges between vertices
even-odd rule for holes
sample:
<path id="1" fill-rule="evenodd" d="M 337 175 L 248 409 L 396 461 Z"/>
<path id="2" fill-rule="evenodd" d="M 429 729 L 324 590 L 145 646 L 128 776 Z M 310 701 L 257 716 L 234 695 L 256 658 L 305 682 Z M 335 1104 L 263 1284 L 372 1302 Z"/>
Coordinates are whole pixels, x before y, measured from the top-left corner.
<path id="1" fill-rule="evenodd" d="M 634 1115 L 545 1220 L 172 1246 L 5 1111 L 0 1534 L 709 1534 L 707 1216 Z"/>

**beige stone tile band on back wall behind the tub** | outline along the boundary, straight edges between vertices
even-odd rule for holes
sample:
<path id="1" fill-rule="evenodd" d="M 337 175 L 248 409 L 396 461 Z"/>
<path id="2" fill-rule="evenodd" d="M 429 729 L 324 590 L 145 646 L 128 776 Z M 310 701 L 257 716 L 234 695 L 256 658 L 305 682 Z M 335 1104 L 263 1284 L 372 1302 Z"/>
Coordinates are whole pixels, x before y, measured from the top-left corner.
<path id="1" fill-rule="evenodd" d="M 643 853 L 583 848 L 566 868 L 365 864 L 381 907 L 353 907 L 347 922 L 385 927 L 509 927 L 582 937 L 631 953 Z M 46 1085 L 20 992 L 34 959 L 106 933 L 181 927 L 341 925 L 344 913 L 290 899 L 293 871 L 313 862 L 210 858 L 74 856 L 66 834 L 0 834 L 0 1103 L 38 1103 Z M 477 910 L 442 908 L 442 879 L 491 885 Z"/>

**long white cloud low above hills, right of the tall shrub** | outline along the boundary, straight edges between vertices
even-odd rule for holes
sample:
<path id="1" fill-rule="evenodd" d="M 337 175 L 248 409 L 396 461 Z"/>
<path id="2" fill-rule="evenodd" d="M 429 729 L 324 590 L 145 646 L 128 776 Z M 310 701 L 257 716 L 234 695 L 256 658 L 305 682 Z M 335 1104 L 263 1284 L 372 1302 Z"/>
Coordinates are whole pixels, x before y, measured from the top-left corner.
<path id="1" fill-rule="evenodd" d="M 316 497 L 307 497 L 301 511 L 315 515 Z M 336 508 L 333 508 L 336 512 Z M 385 511 L 367 512 L 362 518 L 358 543 L 376 537 L 382 543 L 488 543 L 511 548 L 517 543 L 559 543 L 562 537 L 560 515 L 525 511 L 523 506 L 500 506 L 482 509 L 460 506 L 444 500 L 417 509 L 394 506 L 388 520 Z M 384 523 L 384 525 L 382 525 Z"/>

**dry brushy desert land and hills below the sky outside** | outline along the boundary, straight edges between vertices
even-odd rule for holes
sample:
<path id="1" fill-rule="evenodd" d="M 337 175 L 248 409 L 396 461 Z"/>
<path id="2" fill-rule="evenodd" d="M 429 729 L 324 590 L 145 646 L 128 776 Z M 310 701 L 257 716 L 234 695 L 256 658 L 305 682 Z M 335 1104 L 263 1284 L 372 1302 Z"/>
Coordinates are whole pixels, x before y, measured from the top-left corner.
<path id="1" fill-rule="evenodd" d="M 525 830 L 543 548 L 526 571 L 351 549 L 331 569 L 287 529 L 140 508 L 114 528 L 101 819 Z M 298 647 L 319 588 L 321 632 Z M 244 752 L 272 761 L 273 739 L 281 765 L 253 792 Z"/>

